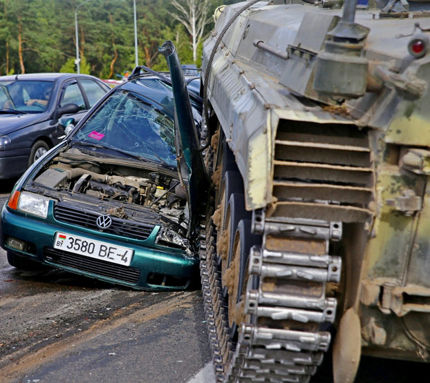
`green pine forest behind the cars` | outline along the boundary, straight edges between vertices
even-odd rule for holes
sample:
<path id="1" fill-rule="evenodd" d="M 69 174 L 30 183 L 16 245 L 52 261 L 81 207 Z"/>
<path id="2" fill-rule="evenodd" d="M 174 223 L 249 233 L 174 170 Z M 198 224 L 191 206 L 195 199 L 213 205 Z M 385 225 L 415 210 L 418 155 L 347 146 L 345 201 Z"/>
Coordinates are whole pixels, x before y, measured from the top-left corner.
<path id="1" fill-rule="evenodd" d="M 0 0 L 0 75 L 76 72 L 75 9 L 84 0 Z M 176 0 L 186 3 L 185 0 Z M 194 0 L 194 3 L 203 0 Z M 236 1 L 207 0 L 208 23 L 217 6 Z M 163 41 L 174 41 L 181 63 L 194 63 L 191 35 L 178 21 L 174 1 L 135 0 L 139 64 L 167 70 L 158 54 Z M 175 17 L 176 16 L 176 17 Z M 135 66 L 133 0 L 91 0 L 77 16 L 80 72 L 118 79 Z M 200 67 L 201 49 L 196 65 Z"/>

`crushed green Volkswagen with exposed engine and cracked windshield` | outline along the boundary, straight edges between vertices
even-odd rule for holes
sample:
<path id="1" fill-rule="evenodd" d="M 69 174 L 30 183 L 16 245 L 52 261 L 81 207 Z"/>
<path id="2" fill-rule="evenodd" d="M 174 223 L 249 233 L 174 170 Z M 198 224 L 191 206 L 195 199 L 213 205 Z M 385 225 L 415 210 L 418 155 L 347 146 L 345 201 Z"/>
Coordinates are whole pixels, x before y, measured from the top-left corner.
<path id="1" fill-rule="evenodd" d="M 188 77 L 188 86 L 197 80 Z M 197 131 L 200 97 L 191 104 Z M 133 288 L 187 288 L 198 274 L 199 230 L 188 155 L 178 154 L 180 119 L 165 76 L 136 70 L 110 90 L 12 190 L 1 210 L 9 263 Z"/>

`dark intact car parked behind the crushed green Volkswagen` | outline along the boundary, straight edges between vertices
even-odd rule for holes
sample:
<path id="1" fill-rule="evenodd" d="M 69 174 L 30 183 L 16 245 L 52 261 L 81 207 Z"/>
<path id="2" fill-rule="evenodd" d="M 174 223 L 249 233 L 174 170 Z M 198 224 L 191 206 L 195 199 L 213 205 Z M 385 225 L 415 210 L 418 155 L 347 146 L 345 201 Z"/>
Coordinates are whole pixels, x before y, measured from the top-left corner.
<path id="1" fill-rule="evenodd" d="M 108 90 L 88 75 L 0 77 L 0 179 L 22 175 L 64 138 L 60 117 L 79 121 Z"/>

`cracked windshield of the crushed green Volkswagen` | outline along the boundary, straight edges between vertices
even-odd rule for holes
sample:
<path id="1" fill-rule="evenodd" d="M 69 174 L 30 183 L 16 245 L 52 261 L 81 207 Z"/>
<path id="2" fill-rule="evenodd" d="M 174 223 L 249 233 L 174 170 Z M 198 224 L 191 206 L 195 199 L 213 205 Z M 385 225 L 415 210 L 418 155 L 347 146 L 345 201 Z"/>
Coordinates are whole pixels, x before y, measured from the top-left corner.
<path id="1" fill-rule="evenodd" d="M 113 93 L 75 133 L 73 141 L 176 166 L 174 121 L 137 93 L 125 90 Z"/>

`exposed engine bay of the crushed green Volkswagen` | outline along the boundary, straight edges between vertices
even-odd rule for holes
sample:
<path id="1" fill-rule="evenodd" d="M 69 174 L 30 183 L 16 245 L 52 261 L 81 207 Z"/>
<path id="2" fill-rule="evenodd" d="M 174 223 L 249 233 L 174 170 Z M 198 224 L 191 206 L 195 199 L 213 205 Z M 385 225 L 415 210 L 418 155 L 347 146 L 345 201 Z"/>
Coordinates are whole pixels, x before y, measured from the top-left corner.
<path id="1" fill-rule="evenodd" d="M 133 208 L 150 209 L 159 213 L 161 219 L 165 217 L 182 229 L 188 228 L 187 193 L 174 170 L 151 168 L 144 163 L 139 167 L 127 166 L 120 159 L 88 159 L 89 156 L 82 154 L 75 148 L 60 153 L 44 166 L 26 190 L 58 199 L 85 195 L 97 202 L 117 202 L 118 208 L 105 213 L 122 218 L 127 218 L 124 208 L 132 204 Z"/>

